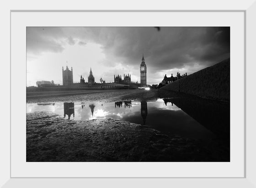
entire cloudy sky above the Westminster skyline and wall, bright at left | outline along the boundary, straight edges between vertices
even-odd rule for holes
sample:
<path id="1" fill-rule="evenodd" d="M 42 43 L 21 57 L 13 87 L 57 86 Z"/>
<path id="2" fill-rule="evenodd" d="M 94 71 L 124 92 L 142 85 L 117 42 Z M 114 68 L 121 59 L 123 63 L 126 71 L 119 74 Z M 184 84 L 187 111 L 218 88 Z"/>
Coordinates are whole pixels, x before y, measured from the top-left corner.
<path id="1" fill-rule="evenodd" d="M 163 75 L 192 74 L 229 58 L 229 27 L 27 27 L 27 86 L 36 81 L 62 85 L 62 66 L 73 67 L 74 82 L 112 82 L 131 74 L 139 81 L 144 54 L 147 83 Z M 67 63 L 68 61 L 68 63 Z"/>

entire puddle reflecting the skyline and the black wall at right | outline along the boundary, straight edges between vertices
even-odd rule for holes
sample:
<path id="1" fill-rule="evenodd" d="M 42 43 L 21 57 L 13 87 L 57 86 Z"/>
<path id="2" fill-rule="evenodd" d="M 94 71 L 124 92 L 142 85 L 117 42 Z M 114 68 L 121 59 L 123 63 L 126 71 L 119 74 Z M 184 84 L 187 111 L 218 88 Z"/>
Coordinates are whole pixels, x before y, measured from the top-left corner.
<path id="1" fill-rule="evenodd" d="M 54 104 L 54 105 L 53 105 Z M 155 102 L 120 101 L 96 105 L 87 102 L 27 104 L 28 112 L 55 112 L 64 118 L 88 121 L 112 117 L 147 125 L 164 134 L 209 140 L 229 134 L 229 106 L 214 101 L 158 99 Z M 68 116 L 68 118 L 66 117 Z"/>

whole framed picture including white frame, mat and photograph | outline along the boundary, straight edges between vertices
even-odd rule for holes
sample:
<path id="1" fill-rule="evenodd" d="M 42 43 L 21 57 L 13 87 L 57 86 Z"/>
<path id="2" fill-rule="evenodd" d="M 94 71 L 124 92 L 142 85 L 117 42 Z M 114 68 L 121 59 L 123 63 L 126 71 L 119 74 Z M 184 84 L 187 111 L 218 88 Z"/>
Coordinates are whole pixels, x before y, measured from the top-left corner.
<path id="1" fill-rule="evenodd" d="M 256 186 L 246 121 L 256 3 L 176 7 L 10 8 L 4 186 Z"/>

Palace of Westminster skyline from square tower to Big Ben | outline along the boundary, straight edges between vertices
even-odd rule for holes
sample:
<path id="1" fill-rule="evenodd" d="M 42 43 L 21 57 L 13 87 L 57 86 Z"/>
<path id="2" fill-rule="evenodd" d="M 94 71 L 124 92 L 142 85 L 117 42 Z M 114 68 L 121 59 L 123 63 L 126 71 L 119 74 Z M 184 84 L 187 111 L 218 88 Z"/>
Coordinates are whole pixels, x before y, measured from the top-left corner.
<path id="1" fill-rule="evenodd" d="M 147 86 L 147 66 L 145 64 L 144 60 L 144 55 L 142 56 L 140 64 L 140 84 L 137 82 L 131 81 L 131 75 L 125 75 L 123 74 L 123 79 L 121 75 L 114 75 L 114 82 L 115 84 L 136 84 L 141 87 Z M 81 75 L 80 77 L 80 83 L 74 83 L 73 81 L 73 67 L 71 67 L 71 70 L 69 70 L 69 67 L 66 66 L 66 69 L 64 70 L 64 67 L 62 67 L 62 81 L 63 81 L 63 86 L 65 87 L 73 87 L 77 85 L 88 85 L 88 86 L 93 86 L 96 85 L 97 83 L 95 82 L 95 77 L 92 74 L 92 71 L 90 70 L 90 74 L 88 76 L 88 82 L 85 82 L 84 77 Z M 102 78 L 100 79 L 101 83 L 106 83 Z M 99 83 L 98 83 L 99 84 Z"/>

